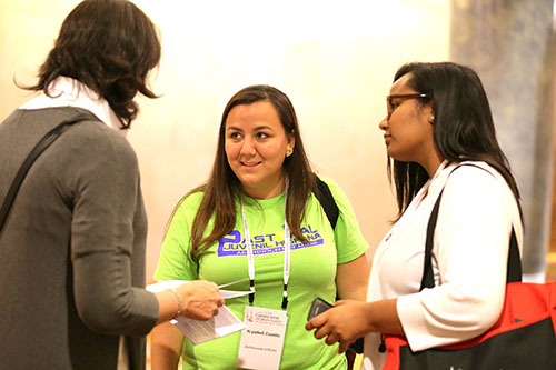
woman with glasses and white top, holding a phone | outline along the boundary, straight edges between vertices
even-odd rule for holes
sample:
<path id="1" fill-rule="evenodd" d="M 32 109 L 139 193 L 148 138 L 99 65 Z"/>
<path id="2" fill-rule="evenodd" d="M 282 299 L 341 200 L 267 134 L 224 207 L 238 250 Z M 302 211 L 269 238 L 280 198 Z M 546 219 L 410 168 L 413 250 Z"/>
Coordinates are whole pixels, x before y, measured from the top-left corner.
<path id="1" fill-rule="evenodd" d="M 449 62 L 403 66 L 379 128 L 398 217 L 375 253 L 367 303 L 337 302 L 307 323 L 317 329 L 316 338 L 339 341 L 340 350 L 365 336 L 365 369 L 384 364 L 381 333 L 405 334 L 411 350 L 420 351 L 492 327 L 503 308 L 512 228 L 519 246 L 523 239 L 516 181 L 471 69 Z M 427 223 L 443 189 L 433 244 L 435 287 L 419 291 Z"/>

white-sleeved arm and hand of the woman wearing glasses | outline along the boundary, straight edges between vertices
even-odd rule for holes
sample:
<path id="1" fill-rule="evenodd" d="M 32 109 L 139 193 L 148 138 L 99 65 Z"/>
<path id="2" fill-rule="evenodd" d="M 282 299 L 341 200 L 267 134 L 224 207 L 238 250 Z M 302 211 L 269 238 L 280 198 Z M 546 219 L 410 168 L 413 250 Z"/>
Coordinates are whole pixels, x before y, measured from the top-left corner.
<path id="1" fill-rule="evenodd" d="M 469 181 L 464 170 L 454 174 L 464 179 L 446 187 L 435 236 L 441 286 L 397 300 L 338 303 L 322 318 L 311 320 L 307 329 L 322 328 L 317 338 L 330 336 L 329 342 L 340 343 L 369 331 L 405 333 L 411 349 L 420 350 L 470 339 L 492 326 L 504 299 L 508 219 L 517 209 L 513 196 L 507 189 L 504 196 L 490 174 L 471 169 L 479 176 Z M 342 322 L 346 317 L 349 322 Z"/>

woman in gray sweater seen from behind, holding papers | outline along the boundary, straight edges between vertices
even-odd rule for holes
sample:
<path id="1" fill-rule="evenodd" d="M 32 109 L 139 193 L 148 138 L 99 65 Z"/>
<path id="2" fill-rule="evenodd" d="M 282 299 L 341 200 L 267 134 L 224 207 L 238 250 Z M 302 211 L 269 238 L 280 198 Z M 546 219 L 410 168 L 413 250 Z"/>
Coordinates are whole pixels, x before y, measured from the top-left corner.
<path id="1" fill-rule="evenodd" d="M 137 92 L 156 98 L 155 24 L 127 0 L 85 0 L 62 23 L 27 89 L 42 91 L 0 124 L 0 201 L 31 149 L 67 129 L 28 172 L 0 230 L 0 369 L 145 368 L 145 338 L 177 314 L 208 320 L 216 284 L 145 288 L 147 218 L 125 138 Z"/>

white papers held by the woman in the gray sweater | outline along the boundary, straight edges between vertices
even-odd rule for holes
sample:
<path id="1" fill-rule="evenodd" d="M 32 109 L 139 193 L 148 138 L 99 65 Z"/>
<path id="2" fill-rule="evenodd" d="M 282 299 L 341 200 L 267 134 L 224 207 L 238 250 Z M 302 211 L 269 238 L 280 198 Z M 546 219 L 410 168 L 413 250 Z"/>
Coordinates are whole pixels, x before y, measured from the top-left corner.
<path id="1" fill-rule="evenodd" d="M 186 283 L 186 280 L 168 280 L 160 281 L 150 286 L 147 286 L 147 290 L 151 292 L 160 292 L 167 289 L 176 288 Z M 235 283 L 235 282 L 232 282 Z M 229 286 L 224 284 L 224 286 Z M 249 294 L 249 291 L 234 291 L 220 289 L 220 296 L 224 299 L 236 298 Z M 186 336 L 191 343 L 198 344 L 206 342 L 211 339 L 225 337 L 231 334 L 232 332 L 242 330 L 246 328 L 245 323 L 238 319 L 226 306 L 218 308 L 218 313 L 207 321 L 199 321 L 179 316 L 177 319 L 171 320 L 176 327 Z"/>

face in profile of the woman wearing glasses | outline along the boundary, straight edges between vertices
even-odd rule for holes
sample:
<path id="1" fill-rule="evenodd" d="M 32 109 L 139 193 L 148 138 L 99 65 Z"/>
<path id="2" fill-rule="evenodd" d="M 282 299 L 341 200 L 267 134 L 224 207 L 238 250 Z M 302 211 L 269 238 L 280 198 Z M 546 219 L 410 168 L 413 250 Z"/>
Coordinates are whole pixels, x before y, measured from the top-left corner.
<path id="1" fill-rule="evenodd" d="M 406 97 L 390 99 L 388 116 L 380 121 L 379 128 L 385 131 L 388 156 L 403 162 L 417 162 L 427 169 L 436 158 L 434 112 L 430 103 L 423 104 L 415 96 L 407 97 L 417 93 L 409 84 L 410 79 L 410 73 L 405 74 L 391 86 L 389 96 Z"/>

